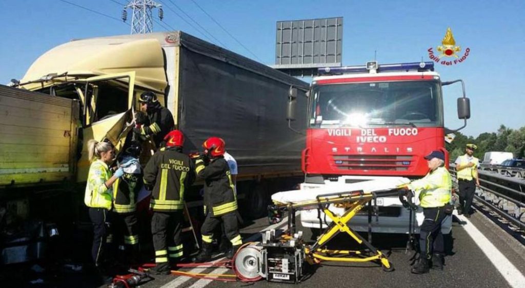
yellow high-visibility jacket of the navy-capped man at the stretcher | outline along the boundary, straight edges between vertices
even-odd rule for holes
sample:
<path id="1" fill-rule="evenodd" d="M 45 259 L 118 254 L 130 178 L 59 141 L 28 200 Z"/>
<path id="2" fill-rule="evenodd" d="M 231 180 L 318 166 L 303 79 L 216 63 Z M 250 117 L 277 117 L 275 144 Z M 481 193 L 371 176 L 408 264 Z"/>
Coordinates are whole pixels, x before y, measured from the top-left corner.
<path id="1" fill-rule="evenodd" d="M 425 177 L 408 184 L 408 189 L 419 193 L 421 207 L 443 207 L 450 202 L 452 177 L 445 167 L 438 167 Z"/>

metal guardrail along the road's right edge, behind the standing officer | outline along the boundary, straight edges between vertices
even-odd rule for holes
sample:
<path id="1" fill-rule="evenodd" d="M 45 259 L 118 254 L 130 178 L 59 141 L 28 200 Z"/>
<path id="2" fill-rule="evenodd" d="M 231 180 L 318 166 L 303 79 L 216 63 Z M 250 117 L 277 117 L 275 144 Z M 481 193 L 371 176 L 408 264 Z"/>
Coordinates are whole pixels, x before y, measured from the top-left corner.
<path id="1" fill-rule="evenodd" d="M 449 166 L 450 174 L 456 178 L 456 165 Z M 476 189 L 475 199 L 490 210 L 511 223 L 513 231 L 525 232 L 525 179 L 521 175 L 525 170 L 516 170 L 514 175 L 508 174 L 509 167 L 493 166 L 495 169 L 478 170 L 480 186 Z M 504 173 L 502 171 L 505 170 Z M 516 176 L 518 175 L 518 176 Z M 456 189 L 458 191 L 458 189 Z"/>

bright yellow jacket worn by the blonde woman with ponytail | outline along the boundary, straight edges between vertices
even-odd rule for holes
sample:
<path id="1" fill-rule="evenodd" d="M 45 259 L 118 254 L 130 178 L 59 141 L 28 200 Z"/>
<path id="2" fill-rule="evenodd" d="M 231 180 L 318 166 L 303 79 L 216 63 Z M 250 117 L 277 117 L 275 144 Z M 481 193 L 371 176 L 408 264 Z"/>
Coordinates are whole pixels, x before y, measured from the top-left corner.
<path id="1" fill-rule="evenodd" d="M 89 167 L 84 203 L 91 208 L 104 208 L 111 210 L 112 189 L 106 187 L 106 181 L 113 174 L 102 160 L 97 159 Z"/>

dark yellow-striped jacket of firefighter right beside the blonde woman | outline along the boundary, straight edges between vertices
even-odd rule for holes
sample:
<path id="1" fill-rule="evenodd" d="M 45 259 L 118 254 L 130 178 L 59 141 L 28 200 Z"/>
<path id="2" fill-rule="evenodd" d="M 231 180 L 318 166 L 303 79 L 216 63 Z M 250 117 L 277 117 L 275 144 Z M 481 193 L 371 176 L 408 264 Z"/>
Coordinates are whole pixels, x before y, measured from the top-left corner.
<path id="1" fill-rule="evenodd" d="M 113 184 L 113 207 L 117 213 L 135 211 L 137 196 L 142 188 L 142 173 L 124 173 Z"/>

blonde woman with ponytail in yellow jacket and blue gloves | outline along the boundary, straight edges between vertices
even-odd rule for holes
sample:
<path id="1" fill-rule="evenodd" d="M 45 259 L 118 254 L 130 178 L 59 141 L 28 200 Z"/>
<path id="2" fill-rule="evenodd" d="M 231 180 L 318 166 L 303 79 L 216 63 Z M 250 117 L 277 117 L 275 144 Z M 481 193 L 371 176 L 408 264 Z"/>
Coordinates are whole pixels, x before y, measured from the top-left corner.
<path id="1" fill-rule="evenodd" d="M 111 282 L 111 277 L 104 267 L 104 252 L 109 234 L 107 223 L 111 221 L 112 185 L 124 174 L 122 167 L 111 173 L 109 165 L 115 158 L 111 143 L 90 140 L 88 142 L 89 167 L 88 181 L 84 202 L 89 207 L 89 218 L 93 223 L 93 246 L 91 256 L 95 262 L 102 281 Z M 123 165 L 124 166 L 124 165 Z"/>

